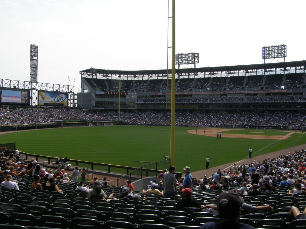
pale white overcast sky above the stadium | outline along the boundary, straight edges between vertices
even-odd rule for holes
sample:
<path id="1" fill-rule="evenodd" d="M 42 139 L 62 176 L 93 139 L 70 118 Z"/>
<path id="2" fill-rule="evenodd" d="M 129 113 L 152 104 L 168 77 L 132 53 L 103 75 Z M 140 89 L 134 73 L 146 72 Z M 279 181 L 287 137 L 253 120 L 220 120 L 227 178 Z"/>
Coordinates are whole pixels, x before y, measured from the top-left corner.
<path id="1" fill-rule="evenodd" d="M 29 81 L 30 44 L 38 45 L 38 82 L 67 85 L 70 76 L 73 85 L 75 77 L 75 91 L 79 71 L 91 67 L 166 69 L 167 4 L 0 0 L 0 78 Z M 176 0 L 176 54 L 200 53 L 196 67 L 260 64 L 263 46 L 285 44 L 286 61 L 303 60 L 305 9 L 304 0 Z"/>

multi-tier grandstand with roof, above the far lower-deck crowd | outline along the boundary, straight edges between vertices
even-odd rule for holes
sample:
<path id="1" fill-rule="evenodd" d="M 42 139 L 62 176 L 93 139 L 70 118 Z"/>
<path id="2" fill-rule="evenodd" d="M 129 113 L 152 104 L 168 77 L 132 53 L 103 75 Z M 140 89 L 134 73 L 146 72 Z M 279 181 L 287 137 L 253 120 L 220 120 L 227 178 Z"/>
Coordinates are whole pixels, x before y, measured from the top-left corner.
<path id="1" fill-rule="evenodd" d="M 176 108 L 181 110 L 292 110 L 306 108 L 303 61 L 176 70 Z M 80 71 L 77 107 L 92 110 L 166 109 L 167 70 Z M 119 85 L 120 82 L 120 85 Z M 171 85 L 168 83 L 168 85 Z M 120 87 L 120 89 L 119 89 Z"/>

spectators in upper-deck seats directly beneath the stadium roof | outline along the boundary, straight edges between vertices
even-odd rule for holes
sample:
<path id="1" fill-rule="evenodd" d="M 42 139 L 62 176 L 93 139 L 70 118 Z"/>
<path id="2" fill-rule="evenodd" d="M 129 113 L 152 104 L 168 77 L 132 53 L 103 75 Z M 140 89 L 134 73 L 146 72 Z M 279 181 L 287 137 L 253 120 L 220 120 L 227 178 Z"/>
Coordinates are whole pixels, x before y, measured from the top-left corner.
<path id="1" fill-rule="evenodd" d="M 220 91 L 226 88 L 228 91 L 252 89 L 257 90 L 263 86 L 266 90 L 280 89 L 284 86 L 286 89 L 297 89 L 304 82 L 303 76 L 295 76 L 294 74 L 287 74 L 283 82 L 283 75 L 269 75 L 266 79 L 263 75 L 259 76 L 231 76 L 231 77 L 207 77 L 207 78 L 180 78 L 176 80 L 176 91 L 187 92 L 188 89 L 201 89 L 204 91 Z M 298 78 L 298 80 L 297 80 Z M 98 79 L 100 81 L 100 79 Z M 92 79 L 89 83 L 93 85 L 94 89 L 99 88 L 100 82 L 95 82 L 97 79 Z M 108 80 L 110 81 L 110 80 Z M 109 89 L 113 92 L 118 91 L 118 80 L 116 83 L 108 83 Z M 152 81 L 152 83 L 151 83 Z M 156 92 L 158 89 L 166 90 L 166 80 L 122 80 L 121 89 L 123 92 Z M 170 81 L 171 82 L 171 81 Z M 263 84 L 264 82 L 264 84 Z M 106 84 L 104 84 L 106 85 Z M 104 86 L 100 88 L 103 91 Z"/>

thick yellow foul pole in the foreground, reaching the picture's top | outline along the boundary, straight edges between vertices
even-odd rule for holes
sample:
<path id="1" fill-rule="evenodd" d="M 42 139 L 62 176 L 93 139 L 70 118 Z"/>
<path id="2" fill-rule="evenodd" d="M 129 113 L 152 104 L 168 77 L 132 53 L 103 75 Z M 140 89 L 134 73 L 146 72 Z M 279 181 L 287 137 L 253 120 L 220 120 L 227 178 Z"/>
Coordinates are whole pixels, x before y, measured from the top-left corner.
<path id="1" fill-rule="evenodd" d="M 174 166 L 175 135 L 175 0 L 172 0 L 172 71 L 171 71 L 170 165 Z"/>

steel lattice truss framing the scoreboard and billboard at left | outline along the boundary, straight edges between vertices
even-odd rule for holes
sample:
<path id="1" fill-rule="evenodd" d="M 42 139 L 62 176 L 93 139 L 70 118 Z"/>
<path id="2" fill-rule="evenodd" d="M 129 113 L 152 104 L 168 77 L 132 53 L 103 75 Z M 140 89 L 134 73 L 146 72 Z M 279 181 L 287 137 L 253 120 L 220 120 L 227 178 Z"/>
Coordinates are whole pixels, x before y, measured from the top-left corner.
<path id="1" fill-rule="evenodd" d="M 69 93 L 69 98 L 68 98 L 69 105 L 68 106 L 71 107 L 73 105 L 74 96 L 71 96 L 71 94 L 74 93 L 74 86 L 72 85 L 48 84 L 48 83 L 20 81 L 20 80 L 11 80 L 11 79 L 0 79 L 0 87 L 30 90 L 31 95 L 33 95 L 30 98 L 31 106 L 37 105 L 37 92 L 38 91 L 53 91 L 53 92 Z"/>

